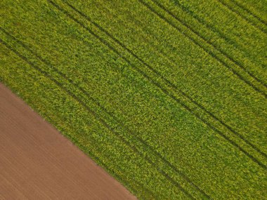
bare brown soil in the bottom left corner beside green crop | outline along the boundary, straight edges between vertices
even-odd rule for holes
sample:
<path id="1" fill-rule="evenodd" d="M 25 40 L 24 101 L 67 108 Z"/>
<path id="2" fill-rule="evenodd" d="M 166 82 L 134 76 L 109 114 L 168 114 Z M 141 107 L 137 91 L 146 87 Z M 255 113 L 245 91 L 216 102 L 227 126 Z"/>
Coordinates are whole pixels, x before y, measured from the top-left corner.
<path id="1" fill-rule="evenodd" d="M 0 84 L 0 199 L 136 199 Z"/>

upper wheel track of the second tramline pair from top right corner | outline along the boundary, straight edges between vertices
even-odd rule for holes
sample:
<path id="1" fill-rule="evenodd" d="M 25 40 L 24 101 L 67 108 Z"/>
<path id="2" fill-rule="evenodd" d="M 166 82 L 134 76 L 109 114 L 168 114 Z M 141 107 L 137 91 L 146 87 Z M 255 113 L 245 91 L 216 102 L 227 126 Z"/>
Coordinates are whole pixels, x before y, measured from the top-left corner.
<path id="1" fill-rule="evenodd" d="M 140 0 L 138 0 L 140 1 Z M 141 0 L 142 1 L 142 0 Z M 207 39 L 204 38 L 204 36 L 202 36 L 201 34 L 197 33 L 192 27 L 190 27 L 190 25 L 186 24 L 185 22 L 183 22 L 183 20 L 179 19 L 176 15 L 174 15 L 174 13 L 172 13 L 171 11 L 169 11 L 167 8 L 165 8 L 164 6 L 162 6 L 162 4 L 160 4 L 157 0 L 151 0 L 154 4 L 156 4 L 159 8 L 161 8 L 163 11 L 167 12 L 169 15 L 171 15 L 172 18 L 174 18 L 175 20 L 177 20 L 178 22 L 181 23 L 181 25 L 183 25 L 184 27 L 188 28 L 191 32 L 193 32 L 194 34 L 196 34 L 198 37 L 200 37 L 200 39 L 202 39 L 203 41 L 205 41 L 207 44 L 209 44 L 210 46 L 212 46 L 216 51 L 219 51 L 219 53 L 221 53 L 222 55 L 224 55 L 226 57 L 226 59 L 230 60 L 231 62 L 233 62 L 237 67 L 240 67 L 240 69 L 244 70 L 245 72 L 247 72 L 247 74 L 249 74 L 249 76 L 251 76 L 253 79 L 255 79 L 256 81 L 258 81 L 261 85 L 265 86 L 265 88 L 267 88 L 267 85 L 265 83 L 263 83 L 263 81 L 261 81 L 261 79 L 259 79 L 258 77 L 256 77 L 254 74 L 252 74 L 251 72 L 249 72 L 248 69 L 246 69 L 240 62 L 238 62 L 237 60 L 234 60 L 233 58 L 231 58 L 225 51 L 221 50 L 221 48 L 219 48 L 218 46 L 216 46 L 216 44 L 211 43 L 210 41 L 208 41 Z M 183 8 L 182 8 L 183 10 Z M 183 10 L 184 11 L 184 10 Z M 188 13 L 186 11 L 184 11 L 185 13 Z M 193 15 L 191 15 L 193 17 Z M 194 18 L 194 17 L 193 17 Z M 195 18 L 196 19 L 196 18 Z M 167 20 L 167 19 L 166 19 Z M 197 20 L 197 19 L 196 19 Z M 197 20 L 198 22 L 200 22 L 200 20 Z M 170 22 L 171 23 L 171 22 Z M 200 22 L 202 23 L 202 25 L 207 25 L 204 22 Z M 174 27 L 174 26 L 173 26 Z M 212 32 L 213 29 L 209 28 Z M 179 31 L 181 32 L 181 31 Z M 217 32 L 219 33 L 219 32 Z M 221 36 L 221 33 L 219 33 L 219 36 Z M 189 38 L 190 36 L 188 36 Z M 225 37 L 221 36 L 222 39 L 226 40 Z M 192 39 L 191 39 L 192 40 Z M 227 41 L 227 40 L 226 40 Z M 195 43 L 195 42 L 194 42 Z M 201 47 L 204 50 L 204 47 Z M 204 50 L 205 51 L 205 50 Z M 207 52 L 207 51 L 206 51 Z M 210 54 L 210 53 L 209 53 Z M 211 54 L 210 54 L 211 55 Z M 211 55 L 212 56 L 212 55 Z M 212 56 L 213 57 L 213 56 Z M 216 57 L 214 57 L 216 58 Z M 219 58 L 216 58 L 216 60 L 218 60 L 219 62 L 221 62 L 219 60 Z M 228 67 L 227 67 L 228 68 Z M 233 69 L 234 70 L 234 69 Z M 233 71 L 232 71 L 233 72 Z M 237 73 L 237 72 L 236 72 Z M 241 76 L 241 75 L 240 75 Z M 245 79 L 245 78 L 244 78 Z"/>

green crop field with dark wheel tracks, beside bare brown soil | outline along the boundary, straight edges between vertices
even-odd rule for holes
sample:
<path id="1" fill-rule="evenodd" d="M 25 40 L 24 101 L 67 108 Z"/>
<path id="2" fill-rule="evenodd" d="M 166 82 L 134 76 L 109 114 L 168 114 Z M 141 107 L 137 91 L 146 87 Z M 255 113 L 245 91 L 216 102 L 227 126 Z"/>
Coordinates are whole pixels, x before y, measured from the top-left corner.
<path id="1" fill-rule="evenodd" d="M 138 199 L 266 199 L 266 0 L 0 11 L 0 81 Z"/>

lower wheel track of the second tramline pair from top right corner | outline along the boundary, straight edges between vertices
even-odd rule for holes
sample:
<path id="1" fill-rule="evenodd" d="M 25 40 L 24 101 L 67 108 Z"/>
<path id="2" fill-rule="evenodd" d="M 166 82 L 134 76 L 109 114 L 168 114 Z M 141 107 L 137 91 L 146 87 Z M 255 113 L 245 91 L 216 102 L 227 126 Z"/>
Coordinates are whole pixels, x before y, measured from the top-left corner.
<path id="1" fill-rule="evenodd" d="M 229 69 L 231 72 L 233 72 L 233 74 L 235 74 L 240 80 L 242 80 L 245 84 L 247 84 L 248 86 L 251 86 L 252 88 L 254 88 L 255 91 L 257 91 L 259 94 L 263 95 L 264 98 L 267 98 L 267 94 L 262 91 L 261 89 L 257 88 L 256 86 L 254 86 L 254 84 L 251 83 L 251 81 L 248 81 L 247 79 L 245 79 L 243 76 L 241 76 L 239 73 L 237 73 L 232 67 L 230 67 L 230 65 L 228 65 L 224 60 L 222 60 L 221 58 L 218 57 L 218 55 L 216 55 L 215 53 L 205 49 L 196 39 L 193 39 L 192 36 L 189 36 L 188 34 L 185 34 L 185 32 L 183 32 L 183 29 L 177 27 L 176 25 L 174 25 L 172 22 L 170 22 L 169 20 L 167 20 L 167 18 L 165 18 L 162 14 L 158 13 L 157 11 L 155 11 L 154 8 L 152 8 L 150 5 L 148 5 L 147 3 L 145 3 L 143 0 L 138 0 L 141 4 L 143 4 L 145 7 L 147 7 L 150 11 L 152 11 L 152 13 L 154 13 L 155 15 L 157 15 L 159 18 L 161 18 L 162 20 L 164 20 L 164 22 L 167 22 L 167 24 L 169 24 L 171 27 L 174 27 L 174 29 L 176 29 L 178 32 L 180 32 L 181 34 L 183 34 L 185 37 L 187 37 L 188 39 L 190 39 L 191 41 L 193 41 L 193 43 L 202 48 L 202 50 L 204 52 L 206 52 L 207 54 L 209 54 L 212 58 L 214 58 L 215 60 L 217 60 L 218 62 L 220 62 L 222 65 L 224 65 L 227 69 Z M 160 7 L 159 7 L 160 8 Z M 183 23 L 181 23 L 183 25 Z M 186 27 L 186 25 L 183 25 Z M 190 30 L 190 28 L 188 28 Z M 191 30 L 190 30 L 191 31 Z M 191 31 L 192 32 L 192 31 Z M 196 34 L 197 36 L 199 36 L 198 34 Z M 201 38 L 201 37 L 200 37 Z M 208 44 L 208 43 L 207 43 Z M 215 51 L 218 51 L 215 48 Z M 225 57 L 227 58 L 227 57 Z M 228 58 L 229 59 L 229 58 Z M 231 62 L 233 62 L 232 60 L 230 60 Z M 235 63 L 235 62 L 233 62 Z M 237 64 L 235 64 L 237 65 Z M 238 65 L 237 65 L 238 66 Z"/>

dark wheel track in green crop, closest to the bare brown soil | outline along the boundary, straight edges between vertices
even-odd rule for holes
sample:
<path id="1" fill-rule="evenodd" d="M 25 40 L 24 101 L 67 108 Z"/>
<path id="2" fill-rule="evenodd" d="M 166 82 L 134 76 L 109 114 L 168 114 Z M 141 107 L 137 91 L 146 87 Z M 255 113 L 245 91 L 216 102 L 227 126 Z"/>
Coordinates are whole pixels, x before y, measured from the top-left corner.
<path id="1" fill-rule="evenodd" d="M 138 149 L 136 147 L 134 147 L 133 145 L 131 145 L 131 142 L 125 140 L 124 137 L 122 135 L 120 135 L 119 133 L 116 133 L 117 131 L 115 131 L 115 128 L 112 128 L 104 119 L 102 119 L 98 114 L 96 114 L 96 112 L 94 112 L 92 109 L 90 109 L 90 107 L 88 105 L 86 105 L 85 102 L 83 102 L 76 95 L 74 95 L 73 93 L 71 93 L 70 91 L 68 91 L 66 88 L 64 88 L 63 87 L 63 84 L 60 84 L 60 82 L 58 82 L 56 79 L 53 79 L 53 77 L 51 75 L 49 75 L 47 72 L 45 72 L 42 69 L 40 69 L 39 67 L 35 66 L 32 62 L 30 62 L 29 60 L 27 60 L 27 58 L 24 55 L 21 55 L 20 53 L 18 53 L 18 51 L 15 51 L 15 49 L 13 49 L 11 46 L 9 46 L 8 44 L 6 44 L 5 41 L 3 41 L 2 39 L 0 39 L 0 42 L 1 42 L 1 44 L 4 44 L 7 48 L 11 49 L 11 51 L 13 51 L 16 55 L 18 55 L 18 57 L 22 58 L 22 60 L 25 60 L 25 62 L 27 62 L 32 67 L 34 67 L 34 69 L 37 69 L 37 71 L 39 71 L 41 74 L 44 74 L 44 76 L 46 76 L 48 79 L 51 79 L 51 81 L 53 81 L 58 87 L 62 88 L 63 91 L 65 91 L 68 95 L 70 95 L 70 97 L 72 97 L 74 100 L 76 100 L 77 102 L 79 102 L 79 104 L 82 105 L 89 113 L 91 113 L 98 121 L 100 121 L 100 123 L 103 124 L 103 126 L 105 126 L 105 128 L 108 128 L 108 130 L 111 131 L 114 135 L 116 135 L 117 138 L 119 138 L 119 140 L 122 140 L 122 142 L 124 142 L 125 145 L 127 145 L 128 147 L 130 147 L 133 152 L 135 152 L 136 154 L 138 154 L 139 156 L 141 156 L 145 161 L 148 162 L 148 164 L 150 164 L 151 166 L 154 166 L 155 168 L 157 168 L 157 171 L 160 174 L 162 174 L 165 178 L 167 178 L 167 180 L 169 180 L 169 182 L 171 182 L 171 184 L 173 184 L 178 189 L 180 189 L 181 192 L 183 192 L 190 199 L 195 199 L 176 180 L 174 180 L 173 178 L 171 178 L 168 175 L 168 173 L 166 173 L 161 168 L 159 168 L 159 166 L 155 165 L 155 163 L 153 161 L 151 161 L 151 159 L 149 159 L 148 156 L 143 155 L 140 151 L 138 151 Z"/>

